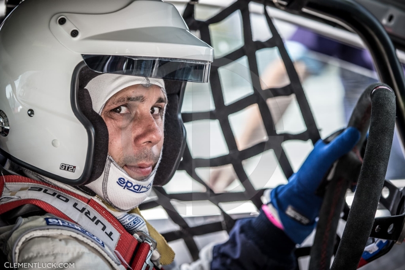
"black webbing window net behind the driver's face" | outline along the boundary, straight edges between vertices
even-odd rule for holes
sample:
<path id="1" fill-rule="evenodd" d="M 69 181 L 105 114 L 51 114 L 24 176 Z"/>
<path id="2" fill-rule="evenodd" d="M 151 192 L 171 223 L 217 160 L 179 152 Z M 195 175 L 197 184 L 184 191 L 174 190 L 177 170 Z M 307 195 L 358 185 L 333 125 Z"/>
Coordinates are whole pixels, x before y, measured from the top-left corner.
<path id="1" fill-rule="evenodd" d="M 205 41 L 209 45 L 212 44 L 210 25 L 226 20 L 234 12 L 240 12 L 241 14 L 244 44 L 240 48 L 237 48 L 224 56 L 215 58 L 211 67 L 209 84 L 212 91 L 215 109 L 210 111 L 182 113 L 182 118 L 185 124 L 200 120 L 218 121 L 223 134 L 223 139 L 225 140 L 228 148 L 228 154 L 214 158 L 192 157 L 192 153 L 190 151 L 191 145 L 188 143 L 178 170 L 185 171 L 195 181 L 203 185 L 206 191 L 169 193 L 163 187 L 155 187 L 155 200 L 146 202 L 140 206 L 141 210 L 151 209 L 157 206 L 162 206 L 165 209 L 168 217 L 178 226 L 175 226 L 175 229 L 170 230 L 169 232 L 164 229 L 166 231 L 163 234 L 164 237 L 168 242 L 183 239 L 193 260 L 198 259 L 199 252 L 195 237 L 220 232 L 222 230 L 229 232 L 234 225 L 235 218 L 238 216 L 231 216 L 227 214 L 226 210 L 221 207 L 221 204 L 251 201 L 257 209 L 260 209 L 262 205 L 261 196 L 265 190 L 263 186 L 264 183 L 268 181 L 270 176 L 264 179 L 264 183 L 262 183 L 261 187 L 254 185 L 251 181 L 252 172 L 248 172 L 246 170 L 243 161 L 261 155 L 261 153 L 265 151 L 273 150 L 274 156 L 278 161 L 282 173 L 284 173 L 285 177 L 288 179 L 294 173 L 294 171 L 282 143 L 289 140 L 310 140 L 312 144 L 314 144 L 320 138 L 319 131 L 301 86 L 299 76 L 294 68 L 293 61 L 290 59 L 284 43 L 264 6 L 262 6 L 262 8 L 264 10 L 268 28 L 271 32 L 271 37 L 266 41 L 253 40 L 249 11 L 250 2 L 251 1 L 249 0 L 238 0 L 231 6 L 219 12 L 214 17 L 205 21 L 196 20 L 194 18 L 194 5 L 188 4 L 186 6 L 183 15 L 184 20 L 186 21 L 190 30 L 199 31 L 201 40 Z M 287 70 L 290 81 L 288 85 L 280 88 L 269 88 L 263 90 L 263 82 L 260 81 L 259 77 L 258 60 L 260 59 L 257 58 L 259 55 L 257 52 L 265 48 L 278 49 L 279 56 L 282 59 L 282 62 L 284 62 Z M 248 79 L 252 84 L 253 93 L 236 101 L 226 102 L 223 91 L 223 84 L 226 82 L 224 82 L 223 78 L 221 78 L 221 72 L 219 72 L 219 69 L 234 61 L 237 61 L 242 57 L 247 57 L 248 60 Z M 302 113 L 303 122 L 306 126 L 305 131 L 299 132 L 298 134 L 284 131 L 280 132 L 277 130 L 274 123 L 275 115 L 272 115 L 272 113 L 274 114 L 274 110 L 271 110 L 271 108 L 269 109 L 269 105 L 266 102 L 268 99 L 274 97 L 287 97 L 292 95 L 295 95 L 299 109 Z M 238 147 L 237 140 L 235 139 L 235 134 L 229 121 L 229 115 L 244 110 L 252 105 L 258 107 L 260 116 L 263 120 L 266 139 L 241 149 L 242 147 L 240 147 L 240 145 Z M 275 111 L 277 112 L 277 109 Z M 198 141 L 193 143 L 198 143 Z M 221 190 L 221 192 L 215 192 L 212 186 L 207 183 L 207 181 L 204 181 L 196 172 L 196 170 L 200 168 L 216 168 L 221 166 L 231 166 L 233 168 L 234 173 L 239 179 L 244 190 L 234 192 L 224 192 Z M 176 208 L 174 205 L 176 202 L 181 203 L 190 201 L 193 203 L 204 201 L 211 202 L 218 207 L 218 209 L 220 209 L 220 218 L 217 216 L 210 219 L 205 219 L 204 222 L 191 222 L 189 219 L 183 217 L 183 215 L 178 212 L 178 207 Z M 301 251 L 298 250 L 297 252 L 297 255 L 299 256 L 308 254 L 308 248 Z"/>

